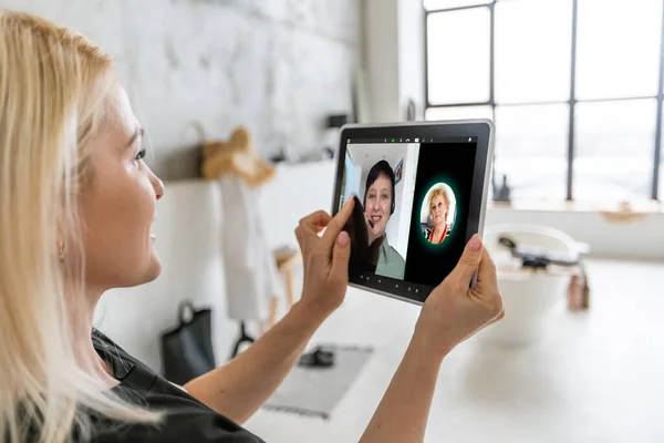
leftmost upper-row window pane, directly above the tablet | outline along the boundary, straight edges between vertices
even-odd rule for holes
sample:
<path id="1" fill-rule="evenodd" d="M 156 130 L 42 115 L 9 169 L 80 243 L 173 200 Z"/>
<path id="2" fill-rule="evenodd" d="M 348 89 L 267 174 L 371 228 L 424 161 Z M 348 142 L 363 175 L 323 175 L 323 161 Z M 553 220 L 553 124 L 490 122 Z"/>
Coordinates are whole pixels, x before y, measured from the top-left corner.
<path id="1" fill-rule="evenodd" d="M 427 27 L 429 102 L 488 102 L 489 9 L 432 13 Z"/>

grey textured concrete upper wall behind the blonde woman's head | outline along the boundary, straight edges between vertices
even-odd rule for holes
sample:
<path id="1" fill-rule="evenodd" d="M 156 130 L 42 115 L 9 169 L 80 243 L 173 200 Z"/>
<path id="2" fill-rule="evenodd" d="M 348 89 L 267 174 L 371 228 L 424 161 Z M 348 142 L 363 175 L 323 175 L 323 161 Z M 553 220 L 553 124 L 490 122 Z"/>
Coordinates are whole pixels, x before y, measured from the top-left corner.
<path id="1" fill-rule="evenodd" d="M 320 150 L 351 112 L 360 0 L 0 0 L 72 27 L 116 58 L 165 179 L 198 175 L 208 137 L 247 125 L 271 155 Z M 325 138 L 328 135 L 328 138 Z"/>

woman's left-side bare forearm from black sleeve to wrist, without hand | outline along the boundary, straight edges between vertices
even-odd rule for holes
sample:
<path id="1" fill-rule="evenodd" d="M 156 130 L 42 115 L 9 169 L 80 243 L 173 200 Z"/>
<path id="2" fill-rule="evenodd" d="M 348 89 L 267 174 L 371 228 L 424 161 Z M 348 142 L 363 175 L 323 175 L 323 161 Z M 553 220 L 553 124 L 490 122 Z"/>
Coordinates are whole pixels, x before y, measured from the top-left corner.
<path id="1" fill-rule="evenodd" d="M 321 322 L 295 303 L 245 352 L 184 388 L 208 408 L 241 424 L 281 384 Z"/>

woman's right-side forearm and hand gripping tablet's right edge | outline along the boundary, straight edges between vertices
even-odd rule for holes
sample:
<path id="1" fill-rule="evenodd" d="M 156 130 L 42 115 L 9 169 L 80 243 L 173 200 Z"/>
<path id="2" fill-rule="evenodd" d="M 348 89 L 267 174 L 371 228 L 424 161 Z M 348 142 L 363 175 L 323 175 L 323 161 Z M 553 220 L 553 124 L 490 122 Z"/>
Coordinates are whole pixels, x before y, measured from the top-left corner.
<path id="1" fill-rule="evenodd" d="M 476 271 L 477 285 L 470 289 Z M 457 267 L 424 303 L 411 344 L 361 442 L 424 441 L 443 359 L 502 316 L 496 268 L 475 237 Z"/>

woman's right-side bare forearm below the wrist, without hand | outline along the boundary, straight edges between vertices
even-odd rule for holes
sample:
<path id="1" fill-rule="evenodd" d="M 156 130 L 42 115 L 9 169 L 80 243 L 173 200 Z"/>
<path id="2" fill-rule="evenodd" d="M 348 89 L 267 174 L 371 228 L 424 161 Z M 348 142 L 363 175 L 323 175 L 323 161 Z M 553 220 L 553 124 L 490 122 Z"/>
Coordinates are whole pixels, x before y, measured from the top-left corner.
<path id="1" fill-rule="evenodd" d="M 422 442 L 442 361 L 415 336 L 360 442 Z"/>

